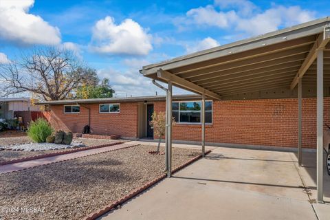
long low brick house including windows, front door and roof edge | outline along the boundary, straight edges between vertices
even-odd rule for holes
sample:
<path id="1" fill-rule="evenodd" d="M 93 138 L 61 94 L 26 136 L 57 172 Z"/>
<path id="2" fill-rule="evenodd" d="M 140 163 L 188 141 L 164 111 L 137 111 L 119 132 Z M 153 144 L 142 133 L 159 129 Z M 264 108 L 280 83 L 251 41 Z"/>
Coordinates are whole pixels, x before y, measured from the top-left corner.
<path id="1" fill-rule="evenodd" d="M 201 96 L 173 96 L 173 140 L 201 141 Z M 41 102 L 49 104 L 50 122 L 56 129 L 101 135 L 121 135 L 127 139 L 153 138 L 148 124 L 153 111 L 165 111 L 164 96 L 104 98 Z M 325 111 L 330 112 L 330 98 Z M 316 146 L 316 99 L 303 99 L 303 146 Z M 285 146 L 298 142 L 297 98 L 257 100 L 208 100 L 206 102 L 206 142 L 231 146 Z M 329 122 L 325 114 L 325 122 Z M 329 123 L 330 124 L 330 123 Z"/>

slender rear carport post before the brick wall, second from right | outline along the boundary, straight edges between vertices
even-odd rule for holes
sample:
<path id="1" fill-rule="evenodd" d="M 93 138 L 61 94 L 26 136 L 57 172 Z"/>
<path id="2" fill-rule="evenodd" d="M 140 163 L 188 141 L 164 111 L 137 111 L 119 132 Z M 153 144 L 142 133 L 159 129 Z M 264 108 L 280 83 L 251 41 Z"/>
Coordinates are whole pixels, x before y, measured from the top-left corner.
<path id="1" fill-rule="evenodd" d="M 302 135 L 302 98 L 303 98 L 303 85 L 302 85 L 302 78 L 300 77 L 298 80 L 298 166 L 301 166 L 303 162 L 303 152 L 302 152 L 302 145 L 303 145 L 303 135 Z"/>

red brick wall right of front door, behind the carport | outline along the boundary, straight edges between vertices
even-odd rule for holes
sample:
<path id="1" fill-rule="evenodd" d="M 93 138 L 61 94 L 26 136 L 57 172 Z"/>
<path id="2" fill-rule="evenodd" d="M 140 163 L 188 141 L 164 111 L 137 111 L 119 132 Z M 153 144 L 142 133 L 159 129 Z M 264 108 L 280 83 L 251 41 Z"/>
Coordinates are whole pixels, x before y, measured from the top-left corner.
<path id="1" fill-rule="evenodd" d="M 330 98 L 325 98 L 325 122 L 330 124 Z M 155 111 L 165 111 L 155 102 Z M 201 141 L 201 125 L 175 124 L 174 140 Z M 291 146 L 298 144 L 298 100 L 233 100 L 213 102 L 213 123 L 206 142 Z M 303 146 L 316 147 L 316 99 L 303 99 Z"/>

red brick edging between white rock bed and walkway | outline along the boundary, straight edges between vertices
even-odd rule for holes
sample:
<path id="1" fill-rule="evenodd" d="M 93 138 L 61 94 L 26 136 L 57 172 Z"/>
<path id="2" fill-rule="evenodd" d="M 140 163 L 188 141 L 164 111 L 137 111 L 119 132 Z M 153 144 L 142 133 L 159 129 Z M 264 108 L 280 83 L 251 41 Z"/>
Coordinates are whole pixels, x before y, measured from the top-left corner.
<path id="1" fill-rule="evenodd" d="M 42 155 L 35 155 L 35 156 L 31 156 L 31 157 L 21 157 L 18 159 L 11 159 L 5 162 L 0 162 L 0 166 L 1 165 L 7 165 L 7 164 L 15 164 L 15 163 L 19 163 L 19 162 L 25 162 L 25 161 L 29 161 L 29 160 L 33 160 L 33 159 L 41 159 L 41 158 L 45 158 L 45 157 L 52 157 L 52 156 L 58 156 L 58 155 L 65 155 L 68 153 L 76 153 L 79 151 L 87 151 L 87 150 L 91 150 L 91 149 L 95 149 L 95 148 L 101 148 L 101 147 L 105 147 L 105 146 L 113 146 L 113 145 L 117 145 L 117 144 L 124 144 L 124 142 L 116 142 L 116 143 L 109 143 L 109 144 L 101 144 L 101 145 L 96 145 L 96 146 L 87 146 L 84 148 L 74 148 L 72 150 L 68 150 L 68 151 L 58 151 L 55 153 L 46 153 L 46 154 L 42 154 Z"/>

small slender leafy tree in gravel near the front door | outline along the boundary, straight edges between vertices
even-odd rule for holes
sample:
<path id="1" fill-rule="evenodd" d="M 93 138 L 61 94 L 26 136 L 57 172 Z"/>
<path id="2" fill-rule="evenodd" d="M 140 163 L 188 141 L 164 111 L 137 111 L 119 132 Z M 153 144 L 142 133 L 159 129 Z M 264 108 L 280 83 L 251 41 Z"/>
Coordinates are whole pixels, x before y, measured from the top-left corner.
<path id="1" fill-rule="evenodd" d="M 160 111 L 159 113 L 154 111 L 153 115 L 151 115 L 151 118 L 152 120 L 150 122 L 150 126 L 153 126 L 153 133 L 159 138 L 157 145 L 157 153 L 158 153 L 160 141 L 162 140 L 162 137 L 165 135 L 166 114 L 164 111 Z M 175 118 L 172 118 L 172 124 L 175 124 Z"/>

